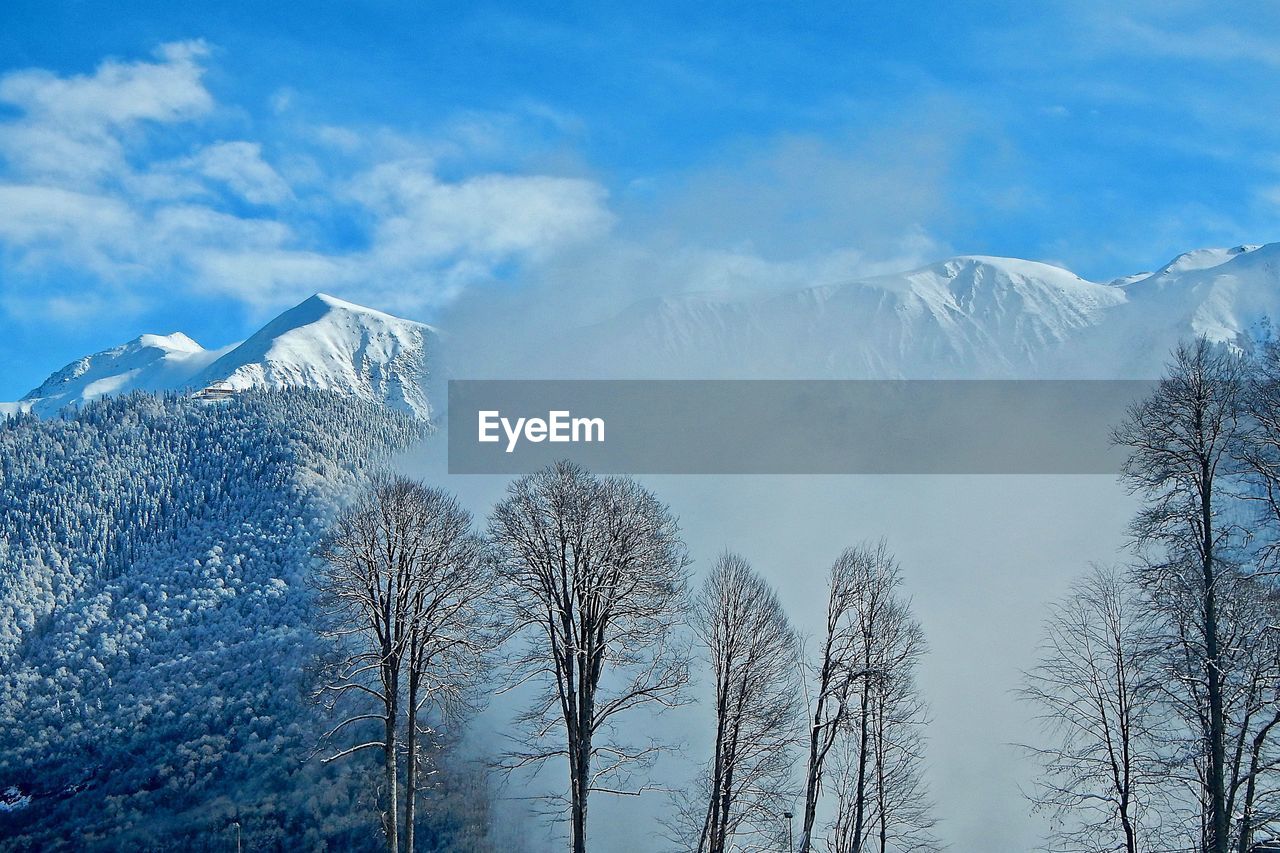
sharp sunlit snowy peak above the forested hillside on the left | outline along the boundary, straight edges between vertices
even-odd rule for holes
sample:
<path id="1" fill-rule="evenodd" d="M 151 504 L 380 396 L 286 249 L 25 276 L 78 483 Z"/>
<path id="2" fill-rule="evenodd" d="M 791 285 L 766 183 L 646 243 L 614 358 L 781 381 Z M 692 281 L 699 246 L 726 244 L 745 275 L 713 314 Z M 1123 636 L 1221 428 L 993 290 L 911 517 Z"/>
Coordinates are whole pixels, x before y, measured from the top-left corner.
<path id="1" fill-rule="evenodd" d="M 320 388 L 428 418 L 422 388 L 435 330 L 317 293 L 209 365 L 192 384 Z"/>

